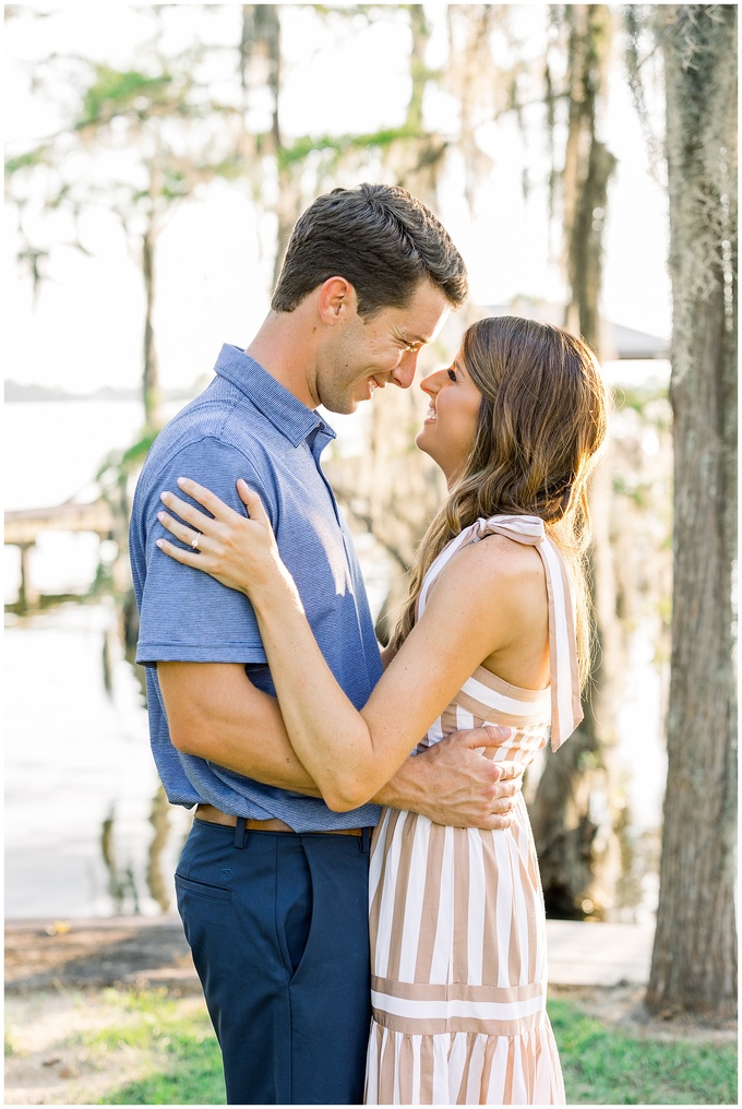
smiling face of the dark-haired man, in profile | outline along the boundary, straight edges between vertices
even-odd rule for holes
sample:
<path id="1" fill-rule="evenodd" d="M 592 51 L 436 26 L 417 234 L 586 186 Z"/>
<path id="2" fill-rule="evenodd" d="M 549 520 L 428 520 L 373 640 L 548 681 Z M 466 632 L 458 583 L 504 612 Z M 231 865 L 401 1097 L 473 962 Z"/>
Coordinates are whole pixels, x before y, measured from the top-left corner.
<path id="1" fill-rule="evenodd" d="M 417 356 L 448 315 L 443 292 L 423 281 L 406 308 L 382 308 L 366 321 L 353 305 L 323 352 L 316 390 L 328 411 L 353 413 L 389 381 L 408 389 Z"/>

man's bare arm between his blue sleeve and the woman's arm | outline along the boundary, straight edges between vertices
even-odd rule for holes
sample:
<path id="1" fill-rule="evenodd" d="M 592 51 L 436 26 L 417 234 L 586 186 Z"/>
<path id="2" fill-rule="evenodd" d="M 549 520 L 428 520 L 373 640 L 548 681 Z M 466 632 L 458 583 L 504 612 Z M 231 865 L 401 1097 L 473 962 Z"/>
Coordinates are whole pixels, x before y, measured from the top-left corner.
<path id="1" fill-rule="evenodd" d="M 278 702 L 231 662 L 159 662 L 173 746 L 256 782 L 321 796 L 294 753 Z"/>

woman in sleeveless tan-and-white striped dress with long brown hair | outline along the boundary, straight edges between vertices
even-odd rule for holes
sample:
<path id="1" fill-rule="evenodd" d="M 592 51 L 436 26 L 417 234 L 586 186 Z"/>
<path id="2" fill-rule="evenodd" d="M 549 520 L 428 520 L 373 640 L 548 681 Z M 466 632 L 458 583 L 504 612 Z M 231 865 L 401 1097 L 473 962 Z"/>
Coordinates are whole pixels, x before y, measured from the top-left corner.
<path id="1" fill-rule="evenodd" d="M 527 765 L 549 729 L 556 750 L 582 715 L 586 487 L 607 410 L 596 359 L 559 328 L 484 319 L 421 388 L 429 408 L 416 441 L 443 469 L 448 498 L 360 713 L 326 667 L 244 481 L 248 518 L 187 479 L 181 488 L 211 516 L 163 495 L 185 523 L 161 520 L 187 548 L 159 546 L 248 594 L 292 744 L 340 811 L 373 796 L 411 747 L 457 729 L 509 725 L 496 757 Z M 366 1101 L 563 1102 L 522 797 L 500 832 L 386 810 L 372 846 L 369 905 Z"/>

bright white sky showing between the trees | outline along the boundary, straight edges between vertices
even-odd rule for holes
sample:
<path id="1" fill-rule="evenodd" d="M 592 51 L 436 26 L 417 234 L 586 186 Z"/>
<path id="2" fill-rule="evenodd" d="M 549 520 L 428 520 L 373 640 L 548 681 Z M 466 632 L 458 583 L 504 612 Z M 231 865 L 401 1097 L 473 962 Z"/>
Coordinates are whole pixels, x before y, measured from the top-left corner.
<path id="1" fill-rule="evenodd" d="M 132 48 L 149 31 L 145 16 L 123 4 L 32 7 L 53 14 L 43 20 L 11 20 L 6 28 L 6 136 L 11 153 L 53 131 L 59 112 L 54 103 L 34 102 L 28 70 L 20 63 L 38 62 L 54 51 L 78 51 L 105 58 L 111 64 L 131 64 Z M 388 7 L 388 14 L 370 27 L 354 22 L 352 34 L 345 22 L 319 33 L 312 6 L 286 7 L 282 13 L 286 58 L 282 123 L 287 134 L 373 131 L 402 122 L 408 95 L 409 32 L 404 16 L 394 12 L 395 6 Z M 165 52 L 186 44 L 206 26 L 210 40 L 237 41 L 238 4 L 211 6 L 206 13 L 191 4 L 173 8 L 167 41 L 162 44 Z M 441 64 L 443 6 L 426 8 L 436 28 L 428 61 Z M 541 6 L 532 6 L 525 16 L 541 18 L 542 12 Z M 449 99 L 431 98 L 426 109 L 438 129 L 454 129 Z M 260 116 L 260 103 L 255 111 Z M 619 167 L 608 208 L 604 315 L 667 335 L 667 199 L 650 175 L 644 138 L 620 60 L 612 80 L 607 135 Z M 504 303 L 517 294 L 558 299 L 559 277 L 547 258 L 543 190 L 535 189 L 528 202 L 521 193 L 522 136 L 511 121 L 490 126 L 482 136 L 492 167 L 477 212 L 472 215 L 464 203 L 456 164 L 440 190 L 439 215 L 467 262 L 472 298 L 481 305 Z M 83 237 L 93 257 L 59 251 L 35 308 L 30 283 L 19 275 L 14 261 L 12 211 L 9 224 L 7 376 L 72 391 L 100 385 L 135 387 L 141 374 L 143 292 L 118 223 L 104 212 L 85 217 Z M 260 250 L 261 241 L 265 247 L 265 228 L 262 240 L 260 231 L 245 193 L 223 183 L 214 185 L 203 201 L 183 204 L 171 218 L 160 242 L 155 308 L 165 386 L 190 386 L 211 372 L 223 342 L 246 345 L 260 325 L 272 269 L 272 258 L 265 248 L 262 254 Z"/>

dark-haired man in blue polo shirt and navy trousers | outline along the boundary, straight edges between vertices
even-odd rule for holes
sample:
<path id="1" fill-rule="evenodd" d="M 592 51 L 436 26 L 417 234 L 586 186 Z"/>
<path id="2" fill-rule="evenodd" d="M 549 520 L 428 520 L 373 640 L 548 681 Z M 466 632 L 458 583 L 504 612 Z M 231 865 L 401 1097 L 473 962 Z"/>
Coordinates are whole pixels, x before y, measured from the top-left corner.
<path id="1" fill-rule="evenodd" d="M 315 409 L 352 413 L 389 383 L 408 388 L 419 349 L 466 293 L 448 234 L 409 193 L 321 196 L 294 228 L 257 335 L 246 352 L 223 348 L 215 380 L 162 431 L 136 490 L 138 658 L 169 800 L 196 805 L 175 881 L 231 1103 L 363 1099 L 378 807 L 324 804 L 288 743 L 250 602 L 156 550 L 160 494 L 191 477 L 242 511 L 236 479 L 260 492 L 323 653 L 362 708 L 382 664 L 319 467 L 334 433 Z M 409 759 L 375 800 L 504 826 L 519 780 L 476 752 L 491 742 L 481 730 L 454 736 Z"/>

